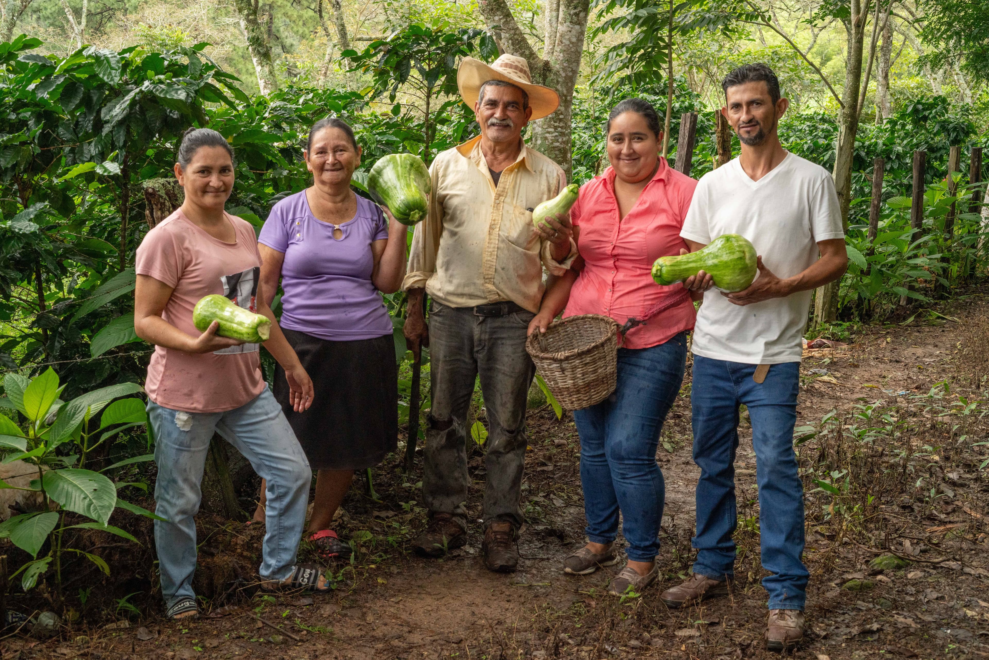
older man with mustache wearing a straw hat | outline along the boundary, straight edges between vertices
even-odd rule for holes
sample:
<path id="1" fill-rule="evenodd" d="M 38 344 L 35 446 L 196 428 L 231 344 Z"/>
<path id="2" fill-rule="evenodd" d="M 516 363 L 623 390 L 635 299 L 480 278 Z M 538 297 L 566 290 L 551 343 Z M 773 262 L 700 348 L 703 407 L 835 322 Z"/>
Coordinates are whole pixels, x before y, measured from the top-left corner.
<path id="1" fill-rule="evenodd" d="M 511 572 L 518 564 L 525 405 L 534 373 L 526 329 L 539 311 L 543 268 L 562 275 L 577 245 L 565 216 L 548 230 L 532 224 L 532 209 L 567 181 L 521 134 L 529 121 L 557 109 L 557 93 L 532 84 L 525 59 L 509 54 L 492 65 L 465 57 L 457 84 L 481 135 L 432 162 L 429 213 L 415 228 L 403 284 L 405 338 L 416 354 L 420 345 L 431 350 L 422 478 L 429 524 L 413 547 L 439 557 L 467 541 L 468 416 L 480 376 L 490 427 L 482 548 L 489 569 Z M 426 293 L 432 299 L 428 327 Z"/>

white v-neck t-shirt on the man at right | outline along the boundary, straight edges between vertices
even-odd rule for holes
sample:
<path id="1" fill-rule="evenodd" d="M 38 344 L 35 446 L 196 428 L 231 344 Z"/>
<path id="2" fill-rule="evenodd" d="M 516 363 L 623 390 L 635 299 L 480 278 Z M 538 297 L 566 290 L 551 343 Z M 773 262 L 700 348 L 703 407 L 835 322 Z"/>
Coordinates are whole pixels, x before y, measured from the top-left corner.
<path id="1" fill-rule="evenodd" d="M 842 214 L 831 174 L 787 153 L 759 181 L 738 158 L 701 177 L 680 236 L 707 244 L 725 234 L 752 241 L 779 278 L 792 277 L 820 256 L 817 242 L 842 238 Z M 799 362 L 811 291 L 740 307 L 711 289 L 697 314 L 693 353 L 745 364 Z"/>

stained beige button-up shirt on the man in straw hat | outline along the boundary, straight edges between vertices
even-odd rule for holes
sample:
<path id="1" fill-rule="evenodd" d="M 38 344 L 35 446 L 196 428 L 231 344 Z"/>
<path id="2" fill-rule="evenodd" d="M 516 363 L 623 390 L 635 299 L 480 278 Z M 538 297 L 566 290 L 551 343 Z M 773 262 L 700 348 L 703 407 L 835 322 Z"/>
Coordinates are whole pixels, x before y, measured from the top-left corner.
<path id="1" fill-rule="evenodd" d="M 495 187 L 478 137 L 438 154 L 429 170 L 429 213 L 415 227 L 403 290 L 424 287 L 448 307 L 511 301 L 538 312 L 543 266 L 562 275 L 577 256 L 572 240 L 555 261 L 532 225 L 531 209 L 567 183 L 560 165 L 523 142 Z"/>

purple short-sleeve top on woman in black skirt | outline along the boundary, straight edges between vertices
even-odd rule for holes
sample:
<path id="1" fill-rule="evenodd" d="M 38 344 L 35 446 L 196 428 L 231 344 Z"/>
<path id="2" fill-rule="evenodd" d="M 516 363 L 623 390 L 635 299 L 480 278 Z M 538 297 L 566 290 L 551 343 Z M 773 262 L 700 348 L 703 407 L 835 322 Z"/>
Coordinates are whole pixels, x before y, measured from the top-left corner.
<path id="1" fill-rule="evenodd" d="M 276 204 L 258 242 L 285 254 L 281 326 L 331 341 L 391 334 L 388 310 L 371 282 L 371 243 L 383 238 L 388 219 L 360 196 L 353 220 L 338 226 L 316 220 L 305 190 Z"/>

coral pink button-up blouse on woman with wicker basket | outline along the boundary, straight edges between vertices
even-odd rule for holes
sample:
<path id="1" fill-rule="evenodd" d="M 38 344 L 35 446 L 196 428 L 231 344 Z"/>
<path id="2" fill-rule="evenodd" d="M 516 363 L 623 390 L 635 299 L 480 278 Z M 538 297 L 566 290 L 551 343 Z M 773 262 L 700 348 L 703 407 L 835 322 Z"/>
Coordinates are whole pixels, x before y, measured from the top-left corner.
<path id="1" fill-rule="evenodd" d="M 661 157 L 639 201 L 619 219 L 614 181 L 614 169 L 608 167 L 582 186 L 571 209 L 574 226 L 581 228 L 578 249 L 585 265 L 571 289 L 565 317 L 600 314 L 621 325 L 629 318 L 642 319 L 671 296 L 682 295 L 680 284 L 657 285 L 652 268 L 659 257 L 679 254 L 686 247 L 679 233 L 697 182 Z M 693 303 L 686 298 L 629 330 L 623 346 L 648 348 L 664 343 L 692 329 L 695 316 Z"/>

